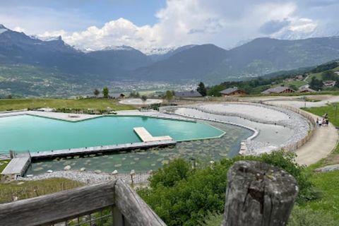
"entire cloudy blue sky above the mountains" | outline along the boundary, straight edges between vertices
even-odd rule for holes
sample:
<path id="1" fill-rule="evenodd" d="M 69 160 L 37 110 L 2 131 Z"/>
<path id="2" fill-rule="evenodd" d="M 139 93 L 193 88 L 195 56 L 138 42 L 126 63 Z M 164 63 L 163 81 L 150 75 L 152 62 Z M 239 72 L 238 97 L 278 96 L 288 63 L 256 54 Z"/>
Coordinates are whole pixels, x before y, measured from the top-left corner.
<path id="1" fill-rule="evenodd" d="M 339 0 L 0 0 L 0 24 L 78 49 L 229 49 L 256 37 L 339 35 Z"/>

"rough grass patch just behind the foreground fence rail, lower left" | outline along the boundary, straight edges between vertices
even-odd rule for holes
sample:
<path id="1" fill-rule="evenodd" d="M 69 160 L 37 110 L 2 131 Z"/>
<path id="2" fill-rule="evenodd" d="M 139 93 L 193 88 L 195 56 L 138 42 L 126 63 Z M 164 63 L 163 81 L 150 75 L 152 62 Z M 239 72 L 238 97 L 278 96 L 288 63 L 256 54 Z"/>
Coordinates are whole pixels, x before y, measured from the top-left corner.
<path id="1" fill-rule="evenodd" d="M 0 184 L 0 203 L 11 201 L 12 196 L 17 196 L 18 199 L 33 198 L 44 194 L 73 189 L 83 185 L 81 182 L 64 178 L 23 182 L 23 184 L 18 183 L 19 182 Z"/>

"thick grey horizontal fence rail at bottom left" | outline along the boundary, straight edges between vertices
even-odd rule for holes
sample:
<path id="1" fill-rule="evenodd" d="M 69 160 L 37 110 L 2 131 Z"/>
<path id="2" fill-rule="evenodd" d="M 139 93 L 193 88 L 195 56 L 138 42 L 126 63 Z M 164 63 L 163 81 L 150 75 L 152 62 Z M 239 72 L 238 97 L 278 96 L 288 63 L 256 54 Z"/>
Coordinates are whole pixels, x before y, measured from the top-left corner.
<path id="1" fill-rule="evenodd" d="M 52 225 L 114 205 L 116 181 L 0 205 L 0 225 Z"/>

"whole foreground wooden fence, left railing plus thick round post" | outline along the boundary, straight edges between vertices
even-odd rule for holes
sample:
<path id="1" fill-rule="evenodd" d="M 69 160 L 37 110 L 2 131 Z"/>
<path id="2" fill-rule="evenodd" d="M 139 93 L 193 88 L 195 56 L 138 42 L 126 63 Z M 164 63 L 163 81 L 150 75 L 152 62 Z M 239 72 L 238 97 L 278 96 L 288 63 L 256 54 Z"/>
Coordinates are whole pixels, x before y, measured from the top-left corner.
<path id="1" fill-rule="evenodd" d="M 295 178 L 278 167 L 235 162 L 227 172 L 222 225 L 286 225 L 297 192 Z M 164 226 L 165 222 L 117 179 L 1 204 L 0 225 Z"/>

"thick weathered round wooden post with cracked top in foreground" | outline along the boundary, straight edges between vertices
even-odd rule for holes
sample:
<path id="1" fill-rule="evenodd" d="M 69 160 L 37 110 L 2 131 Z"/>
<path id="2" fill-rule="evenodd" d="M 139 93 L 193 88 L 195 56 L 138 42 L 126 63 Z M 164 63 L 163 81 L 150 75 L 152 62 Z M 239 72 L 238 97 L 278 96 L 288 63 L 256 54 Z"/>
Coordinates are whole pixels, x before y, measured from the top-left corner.
<path id="1" fill-rule="evenodd" d="M 287 172 L 264 162 L 239 161 L 227 172 L 224 226 L 286 225 L 298 193 Z"/>

